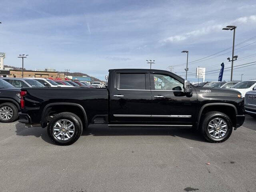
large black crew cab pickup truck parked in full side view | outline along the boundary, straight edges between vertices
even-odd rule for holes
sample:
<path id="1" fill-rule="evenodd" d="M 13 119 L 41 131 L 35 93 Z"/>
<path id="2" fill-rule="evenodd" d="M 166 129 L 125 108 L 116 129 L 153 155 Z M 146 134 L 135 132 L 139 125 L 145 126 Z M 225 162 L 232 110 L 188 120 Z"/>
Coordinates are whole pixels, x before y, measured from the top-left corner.
<path id="1" fill-rule="evenodd" d="M 20 95 L 19 122 L 47 127 L 60 145 L 88 124 L 194 128 L 223 142 L 245 118 L 240 92 L 196 87 L 164 70 L 112 69 L 108 88 L 22 88 Z"/>

